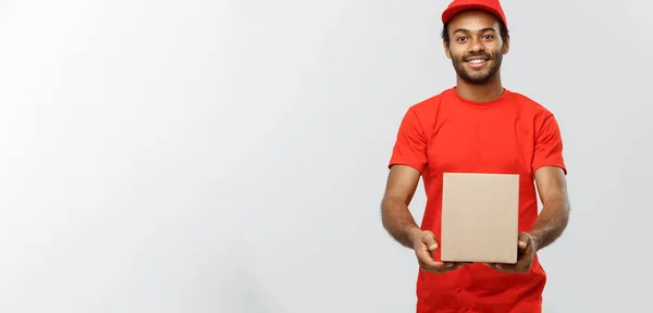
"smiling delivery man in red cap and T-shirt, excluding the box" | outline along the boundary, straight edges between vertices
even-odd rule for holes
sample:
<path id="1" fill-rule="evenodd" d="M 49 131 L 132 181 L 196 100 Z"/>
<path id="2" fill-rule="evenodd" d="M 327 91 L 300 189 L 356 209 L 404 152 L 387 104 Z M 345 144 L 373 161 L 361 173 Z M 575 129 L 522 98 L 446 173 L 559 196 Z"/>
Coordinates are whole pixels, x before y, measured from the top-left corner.
<path id="1" fill-rule="evenodd" d="M 389 164 L 383 226 L 415 251 L 417 312 L 541 312 L 546 274 L 537 252 L 562 235 L 569 215 L 558 124 L 544 107 L 502 86 L 509 36 L 497 0 L 454 0 L 442 22 L 456 86 L 404 115 Z M 447 172 L 520 175 L 516 264 L 439 261 Z M 427 205 L 418 227 L 408 205 L 420 176 Z M 543 203 L 539 215 L 538 196 Z"/>

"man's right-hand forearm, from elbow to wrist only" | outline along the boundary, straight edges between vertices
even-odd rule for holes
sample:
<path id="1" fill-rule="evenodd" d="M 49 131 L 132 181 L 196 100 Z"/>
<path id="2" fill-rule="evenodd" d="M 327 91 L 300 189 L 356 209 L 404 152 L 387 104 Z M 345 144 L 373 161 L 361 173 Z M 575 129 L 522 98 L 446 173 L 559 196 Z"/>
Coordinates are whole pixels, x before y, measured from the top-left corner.
<path id="1" fill-rule="evenodd" d="M 569 221 L 569 202 L 564 197 L 552 199 L 543 204 L 542 212 L 530 230 L 538 250 L 553 243 L 563 235 Z"/>

